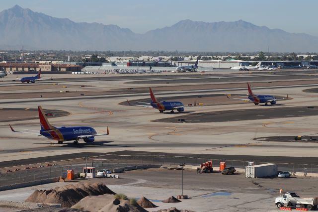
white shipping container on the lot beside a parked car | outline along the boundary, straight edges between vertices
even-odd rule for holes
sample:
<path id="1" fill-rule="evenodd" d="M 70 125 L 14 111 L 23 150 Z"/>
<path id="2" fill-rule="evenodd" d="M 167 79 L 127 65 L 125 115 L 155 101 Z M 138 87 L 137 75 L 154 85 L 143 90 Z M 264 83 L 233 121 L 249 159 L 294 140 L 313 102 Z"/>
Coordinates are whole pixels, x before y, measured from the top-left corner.
<path id="1" fill-rule="evenodd" d="M 245 177 L 262 178 L 277 175 L 278 165 L 274 163 L 266 163 L 255 166 L 245 167 Z"/>

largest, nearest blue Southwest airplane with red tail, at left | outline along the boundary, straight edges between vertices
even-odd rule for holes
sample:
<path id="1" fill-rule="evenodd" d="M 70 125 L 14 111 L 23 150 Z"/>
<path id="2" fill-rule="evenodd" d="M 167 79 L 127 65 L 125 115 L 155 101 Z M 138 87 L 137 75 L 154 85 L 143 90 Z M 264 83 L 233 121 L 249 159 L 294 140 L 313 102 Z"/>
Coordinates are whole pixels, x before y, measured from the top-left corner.
<path id="1" fill-rule="evenodd" d="M 100 135 L 109 135 L 109 129 L 107 126 L 106 133 L 97 134 L 96 130 L 89 126 L 73 126 L 73 127 L 55 127 L 51 125 L 42 109 L 41 106 L 38 106 L 39 118 L 41 130 L 29 130 L 35 132 L 24 132 L 24 131 L 15 131 L 11 124 L 9 124 L 12 132 L 36 134 L 37 136 L 44 136 L 52 140 L 57 140 L 58 144 L 63 144 L 64 141 L 73 141 L 74 144 L 79 143 L 79 139 L 83 139 L 86 143 L 91 143 L 95 140 L 95 136 Z M 36 133 L 38 132 L 38 133 Z"/>

